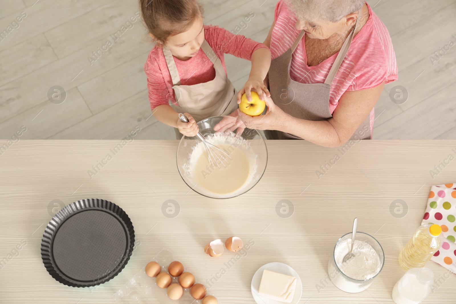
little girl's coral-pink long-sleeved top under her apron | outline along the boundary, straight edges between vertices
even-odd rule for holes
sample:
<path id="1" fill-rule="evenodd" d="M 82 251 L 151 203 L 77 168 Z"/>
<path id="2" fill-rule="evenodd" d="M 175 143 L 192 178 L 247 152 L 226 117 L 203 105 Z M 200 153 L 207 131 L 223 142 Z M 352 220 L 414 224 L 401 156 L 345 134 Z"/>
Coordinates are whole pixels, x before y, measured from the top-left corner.
<path id="1" fill-rule="evenodd" d="M 263 43 L 253 41 L 242 35 L 234 35 L 228 30 L 218 26 L 204 26 L 204 38 L 212 47 L 225 69 L 223 54 L 251 60 L 252 53 L 259 48 L 267 47 Z M 181 85 L 194 85 L 208 82 L 215 78 L 215 69 L 200 48 L 197 54 L 185 61 L 173 57 L 176 62 L 177 72 L 181 79 Z M 147 75 L 147 87 L 149 88 L 150 108 L 154 109 L 161 104 L 168 104 L 168 100 L 176 102 L 171 74 L 166 65 L 165 56 L 161 46 L 155 45 L 149 53 L 144 65 Z"/>

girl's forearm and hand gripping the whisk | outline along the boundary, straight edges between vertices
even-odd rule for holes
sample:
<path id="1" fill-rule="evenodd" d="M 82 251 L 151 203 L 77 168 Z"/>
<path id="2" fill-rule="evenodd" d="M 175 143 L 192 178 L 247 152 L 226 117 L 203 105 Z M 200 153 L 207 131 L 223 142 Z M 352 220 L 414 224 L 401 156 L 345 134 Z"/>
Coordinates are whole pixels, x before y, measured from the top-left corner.
<path id="1" fill-rule="evenodd" d="M 195 136 L 199 131 L 198 125 L 192 115 L 189 113 L 184 113 L 184 115 L 187 116 L 189 120 L 188 123 L 184 123 L 181 121 L 181 119 L 179 119 L 179 113 L 174 111 L 174 109 L 171 108 L 169 104 L 161 104 L 159 106 L 156 106 L 152 110 L 152 114 L 154 114 L 154 117 L 158 121 L 179 129 L 179 132 L 185 136 Z"/>

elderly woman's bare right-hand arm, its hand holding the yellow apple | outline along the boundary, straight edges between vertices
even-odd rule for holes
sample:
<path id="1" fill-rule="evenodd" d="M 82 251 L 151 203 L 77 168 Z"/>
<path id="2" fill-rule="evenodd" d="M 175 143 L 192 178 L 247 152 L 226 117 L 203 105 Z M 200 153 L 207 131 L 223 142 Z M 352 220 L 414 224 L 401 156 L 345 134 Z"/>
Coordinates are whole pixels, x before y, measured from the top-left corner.
<path id="1" fill-rule="evenodd" d="M 368 117 L 377 103 L 385 83 L 375 88 L 360 91 L 347 91 L 339 100 L 332 118 L 321 121 L 297 119 L 277 107 L 272 99 L 266 99 L 266 115 L 250 117 L 239 113 L 239 119 L 247 128 L 279 130 L 306 139 L 325 147 L 338 147 L 345 144 L 358 126 Z"/>

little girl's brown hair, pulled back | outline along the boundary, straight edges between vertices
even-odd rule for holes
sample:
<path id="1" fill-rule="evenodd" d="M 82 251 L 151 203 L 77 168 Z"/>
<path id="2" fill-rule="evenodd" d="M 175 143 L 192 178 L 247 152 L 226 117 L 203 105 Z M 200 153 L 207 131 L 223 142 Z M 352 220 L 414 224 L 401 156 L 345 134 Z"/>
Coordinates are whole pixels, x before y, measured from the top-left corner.
<path id="1" fill-rule="evenodd" d="M 155 41 L 187 31 L 204 9 L 197 0 L 139 0 L 142 20 Z"/>

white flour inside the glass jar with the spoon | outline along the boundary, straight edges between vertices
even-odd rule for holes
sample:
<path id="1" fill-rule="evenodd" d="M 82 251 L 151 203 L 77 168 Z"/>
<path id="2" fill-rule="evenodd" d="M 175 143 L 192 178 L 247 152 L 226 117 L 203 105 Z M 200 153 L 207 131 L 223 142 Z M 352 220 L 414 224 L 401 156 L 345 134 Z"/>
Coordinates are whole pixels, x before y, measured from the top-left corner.
<path id="1" fill-rule="evenodd" d="M 350 252 L 352 240 L 346 239 L 337 244 L 334 251 L 334 258 L 337 263 L 337 267 L 347 277 L 354 280 L 350 280 L 345 277 L 335 267 L 332 258 L 328 263 L 328 274 L 331 281 L 338 289 L 341 289 L 348 293 L 358 293 L 367 289 L 373 280 L 373 278 L 382 268 L 380 258 L 375 249 L 366 242 L 355 240 L 353 245 L 354 258 L 351 258 L 345 263 L 342 263 L 345 255 Z M 355 280 L 365 280 L 356 282 Z"/>

